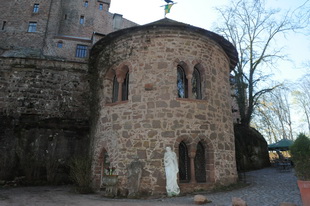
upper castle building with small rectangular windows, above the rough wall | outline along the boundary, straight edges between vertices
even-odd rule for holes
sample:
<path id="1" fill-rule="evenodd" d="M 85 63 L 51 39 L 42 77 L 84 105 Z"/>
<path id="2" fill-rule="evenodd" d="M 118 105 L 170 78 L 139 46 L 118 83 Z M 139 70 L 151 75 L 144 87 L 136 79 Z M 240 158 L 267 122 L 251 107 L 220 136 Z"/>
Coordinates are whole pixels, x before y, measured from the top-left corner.
<path id="1" fill-rule="evenodd" d="M 0 55 L 85 62 L 108 33 L 137 25 L 109 12 L 111 0 L 4 1 Z"/>

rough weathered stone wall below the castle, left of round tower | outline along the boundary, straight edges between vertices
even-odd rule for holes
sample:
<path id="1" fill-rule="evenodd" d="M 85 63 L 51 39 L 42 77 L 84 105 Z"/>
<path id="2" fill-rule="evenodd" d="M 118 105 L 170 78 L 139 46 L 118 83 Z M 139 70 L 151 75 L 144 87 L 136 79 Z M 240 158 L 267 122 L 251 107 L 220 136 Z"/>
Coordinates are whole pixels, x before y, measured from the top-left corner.
<path id="1" fill-rule="evenodd" d="M 88 151 L 88 90 L 86 64 L 0 58 L 0 179 L 68 181 Z"/>

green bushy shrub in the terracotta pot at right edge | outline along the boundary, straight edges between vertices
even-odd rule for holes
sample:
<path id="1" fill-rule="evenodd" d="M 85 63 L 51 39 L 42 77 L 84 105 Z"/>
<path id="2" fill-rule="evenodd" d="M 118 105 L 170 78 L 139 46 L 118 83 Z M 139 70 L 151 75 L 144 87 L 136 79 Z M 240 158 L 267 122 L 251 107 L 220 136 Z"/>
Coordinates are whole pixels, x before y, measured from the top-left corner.
<path id="1" fill-rule="evenodd" d="M 300 133 L 290 148 L 299 180 L 310 180 L 310 139 Z"/>

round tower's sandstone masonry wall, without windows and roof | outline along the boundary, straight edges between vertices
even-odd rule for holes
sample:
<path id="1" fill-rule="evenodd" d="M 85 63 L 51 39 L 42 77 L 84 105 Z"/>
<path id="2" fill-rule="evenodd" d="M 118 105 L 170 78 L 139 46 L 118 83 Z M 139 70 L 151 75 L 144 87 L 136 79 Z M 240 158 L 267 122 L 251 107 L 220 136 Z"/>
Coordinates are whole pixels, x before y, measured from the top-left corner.
<path id="1" fill-rule="evenodd" d="M 219 45 L 193 31 L 158 28 L 124 33 L 95 47 L 94 53 L 100 52 L 95 70 L 91 68 L 93 81 L 98 79 L 92 87 L 98 101 L 92 114 L 97 118 L 92 144 L 97 184 L 104 148 L 121 188 L 126 188 L 126 168 L 138 156 L 144 164 L 141 190 L 163 193 L 164 148 L 171 146 L 178 155 L 181 141 L 191 155 L 199 141 L 206 149 L 207 183 L 196 188 L 236 180 L 229 59 Z M 203 71 L 202 100 L 177 98 L 177 65 L 184 63 Z M 129 68 L 128 101 L 111 103 L 112 81 L 107 79 L 123 66 Z M 181 189 L 193 188 L 184 183 Z"/>

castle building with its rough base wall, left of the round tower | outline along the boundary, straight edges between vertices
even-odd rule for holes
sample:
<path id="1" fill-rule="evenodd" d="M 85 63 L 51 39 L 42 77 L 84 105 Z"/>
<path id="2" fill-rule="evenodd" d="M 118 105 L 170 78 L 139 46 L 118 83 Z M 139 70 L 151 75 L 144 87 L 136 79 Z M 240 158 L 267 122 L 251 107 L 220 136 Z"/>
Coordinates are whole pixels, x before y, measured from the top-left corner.
<path id="1" fill-rule="evenodd" d="M 0 180 L 68 182 L 88 155 L 92 45 L 137 25 L 110 0 L 13 0 L 0 6 Z"/>

